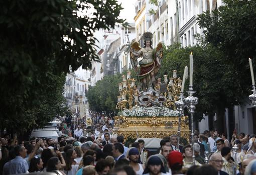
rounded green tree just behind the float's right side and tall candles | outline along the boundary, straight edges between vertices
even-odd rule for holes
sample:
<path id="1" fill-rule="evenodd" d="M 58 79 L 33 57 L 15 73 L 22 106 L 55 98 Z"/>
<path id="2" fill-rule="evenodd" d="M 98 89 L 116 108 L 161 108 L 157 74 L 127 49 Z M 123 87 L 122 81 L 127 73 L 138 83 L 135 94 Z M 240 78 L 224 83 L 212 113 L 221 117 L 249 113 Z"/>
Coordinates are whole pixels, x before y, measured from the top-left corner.
<path id="1" fill-rule="evenodd" d="M 189 67 L 190 52 L 193 53 L 194 60 L 193 88 L 196 90 L 194 96 L 199 98 L 196 117 L 200 120 L 203 113 L 213 117 L 217 112 L 219 116 L 217 127 L 222 130 L 225 108 L 237 104 L 236 99 L 239 98 L 233 90 L 237 87 L 232 86 L 237 81 L 233 76 L 233 67 L 225 64 L 223 52 L 205 43 L 191 48 L 180 48 L 179 44 L 168 46 L 164 50 L 164 60 L 158 76 L 162 79 L 165 74 L 172 77 L 172 70 L 177 70 L 177 77 L 182 78 L 184 67 Z M 184 91 L 188 90 L 188 85 L 189 80 L 186 80 Z M 188 94 L 185 92 L 184 95 Z"/>

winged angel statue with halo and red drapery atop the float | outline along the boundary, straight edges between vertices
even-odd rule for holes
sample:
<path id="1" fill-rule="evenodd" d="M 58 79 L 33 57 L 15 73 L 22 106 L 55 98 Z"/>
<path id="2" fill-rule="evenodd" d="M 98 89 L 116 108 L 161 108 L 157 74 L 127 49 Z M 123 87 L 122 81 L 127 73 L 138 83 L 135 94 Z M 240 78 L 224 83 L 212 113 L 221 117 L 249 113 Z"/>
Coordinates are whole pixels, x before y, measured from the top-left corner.
<path id="1" fill-rule="evenodd" d="M 161 67 L 163 59 L 163 46 L 162 43 L 157 45 L 156 49 L 152 48 L 153 34 L 145 32 L 143 34 L 144 47 L 140 48 L 138 42 L 133 42 L 130 49 L 131 63 L 134 70 L 138 74 L 141 87 L 144 92 L 155 90 L 155 74 Z M 142 57 L 139 61 L 140 70 L 138 69 L 138 58 Z"/>

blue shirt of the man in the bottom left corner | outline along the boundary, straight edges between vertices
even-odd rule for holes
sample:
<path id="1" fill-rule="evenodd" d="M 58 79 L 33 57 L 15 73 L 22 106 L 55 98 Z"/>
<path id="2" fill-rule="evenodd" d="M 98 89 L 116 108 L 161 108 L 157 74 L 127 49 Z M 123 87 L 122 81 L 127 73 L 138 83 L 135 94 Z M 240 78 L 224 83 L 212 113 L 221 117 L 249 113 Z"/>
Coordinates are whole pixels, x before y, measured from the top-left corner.
<path id="1" fill-rule="evenodd" d="M 4 174 L 21 174 L 26 173 L 28 169 L 29 165 L 27 161 L 21 156 L 16 156 L 4 165 L 3 172 Z"/>

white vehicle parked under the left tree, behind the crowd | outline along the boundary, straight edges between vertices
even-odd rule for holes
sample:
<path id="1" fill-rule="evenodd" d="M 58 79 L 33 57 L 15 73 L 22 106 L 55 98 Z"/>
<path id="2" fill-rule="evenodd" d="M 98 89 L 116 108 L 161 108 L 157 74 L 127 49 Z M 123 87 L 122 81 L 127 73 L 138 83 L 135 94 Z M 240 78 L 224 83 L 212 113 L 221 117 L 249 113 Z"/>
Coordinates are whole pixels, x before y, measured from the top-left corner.
<path id="1" fill-rule="evenodd" d="M 34 129 L 31 132 L 30 139 L 33 137 L 38 138 L 52 138 L 57 140 L 60 135 L 60 131 L 57 128 L 43 128 L 43 129 Z"/>

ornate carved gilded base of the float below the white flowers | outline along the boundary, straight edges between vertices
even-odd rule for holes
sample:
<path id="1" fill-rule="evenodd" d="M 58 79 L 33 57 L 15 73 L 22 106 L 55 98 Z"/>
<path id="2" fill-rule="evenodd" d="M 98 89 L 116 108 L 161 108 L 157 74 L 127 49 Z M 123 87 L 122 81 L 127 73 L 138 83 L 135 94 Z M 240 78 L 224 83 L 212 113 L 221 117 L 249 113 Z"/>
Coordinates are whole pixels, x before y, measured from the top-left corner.
<path id="1" fill-rule="evenodd" d="M 113 132 L 127 138 L 163 138 L 177 134 L 178 116 L 164 117 L 137 117 L 137 116 L 116 116 Z M 189 140 L 190 130 L 188 116 L 181 117 L 181 137 Z"/>

